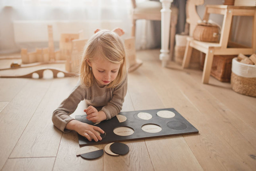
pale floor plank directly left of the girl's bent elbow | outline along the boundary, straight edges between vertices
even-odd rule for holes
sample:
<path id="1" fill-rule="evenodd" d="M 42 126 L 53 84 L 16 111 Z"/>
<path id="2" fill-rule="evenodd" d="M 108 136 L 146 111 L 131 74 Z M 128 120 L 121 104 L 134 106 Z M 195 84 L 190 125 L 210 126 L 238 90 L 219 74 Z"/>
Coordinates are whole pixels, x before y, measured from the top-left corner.
<path id="1" fill-rule="evenodd" d="M 68 97 L 78 78 L 53 79 L 10 158 L 56 157 L 61 131 L 53 126 L 52 112 Z"/>

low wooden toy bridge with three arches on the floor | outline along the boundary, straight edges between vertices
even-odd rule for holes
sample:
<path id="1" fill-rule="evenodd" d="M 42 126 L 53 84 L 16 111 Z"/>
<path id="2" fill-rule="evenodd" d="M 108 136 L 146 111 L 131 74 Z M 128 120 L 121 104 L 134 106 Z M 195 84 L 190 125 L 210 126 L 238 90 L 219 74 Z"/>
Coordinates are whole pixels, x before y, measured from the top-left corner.
<path id="1" fill-rule="evenodd" d="M 25 75 L 13 75 L 13 74 L 0 75 L 0 78 L 33 78 L 32 77 L 33 73 L 37 73 L 39 78 L 43 78 L 43 74 L 44 74 L 45 70 L 51 70 L 53 73 L 53 78 L 57 78 L 57 74 L 59 72 L 63 73 L 64 77 L 76 76 L 76 74 L 74 74 L 74 73 L 69 73 L 67 71 L 60 70 L 58 68 L 46 67 L 46 68 L 41 68 L 39 70 L 33 71 L 33 72 L 25 74 Z"/>

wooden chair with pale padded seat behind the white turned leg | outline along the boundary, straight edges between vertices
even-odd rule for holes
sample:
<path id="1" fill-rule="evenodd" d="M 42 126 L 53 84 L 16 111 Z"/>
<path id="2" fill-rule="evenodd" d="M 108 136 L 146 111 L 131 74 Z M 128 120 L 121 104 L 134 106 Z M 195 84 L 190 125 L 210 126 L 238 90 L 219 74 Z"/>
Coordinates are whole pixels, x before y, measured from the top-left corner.
<path id="1" fill-rule="evenodd" d="M 144 1 L 136 3 L 136 0 L 132 1 L 132 36 L 135 36 L 135 27 L 137 19 L 158 20 L 161 21 L 162 3 L 158 1 Z M 176 24 L 178 19 L 178 8 L 171 7 L 171 26 L 170 26 L 170 55 L 172 55 L 174 49 L 174 40 L 176 32 Z"/>

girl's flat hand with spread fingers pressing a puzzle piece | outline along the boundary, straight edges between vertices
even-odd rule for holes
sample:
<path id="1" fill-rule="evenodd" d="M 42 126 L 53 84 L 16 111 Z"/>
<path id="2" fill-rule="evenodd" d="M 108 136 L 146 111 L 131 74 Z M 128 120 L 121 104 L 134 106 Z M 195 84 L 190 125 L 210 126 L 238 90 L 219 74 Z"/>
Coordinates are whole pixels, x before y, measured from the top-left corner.
<path id="1" fill-rule="evenodd" d="M 104 131 L 100 127 L 89 125 L 78 120 L 71 120 L 66 125 L 66 128 L 70 130 L 75 130 L 78 134 L 86 137 L 89 141 L 92 141 L 93 139 L 96 142 L 98 140 L 102 140 L 100 134 L 97 131 L 99 131 L 102 134 L 104 133 Z"/>

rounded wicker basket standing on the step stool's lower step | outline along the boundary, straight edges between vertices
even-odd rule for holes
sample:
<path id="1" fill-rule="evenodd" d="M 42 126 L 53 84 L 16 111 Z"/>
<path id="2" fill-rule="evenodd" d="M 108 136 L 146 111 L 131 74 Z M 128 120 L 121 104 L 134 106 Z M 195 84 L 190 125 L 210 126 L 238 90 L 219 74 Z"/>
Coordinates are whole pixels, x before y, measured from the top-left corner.
<path id="1" fill-rule="evenodd" d="M 219 42 L 220 27 L 211 23 L 197 24 L 193 38 L 203 42 Z"/>

